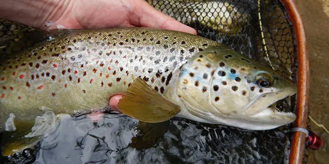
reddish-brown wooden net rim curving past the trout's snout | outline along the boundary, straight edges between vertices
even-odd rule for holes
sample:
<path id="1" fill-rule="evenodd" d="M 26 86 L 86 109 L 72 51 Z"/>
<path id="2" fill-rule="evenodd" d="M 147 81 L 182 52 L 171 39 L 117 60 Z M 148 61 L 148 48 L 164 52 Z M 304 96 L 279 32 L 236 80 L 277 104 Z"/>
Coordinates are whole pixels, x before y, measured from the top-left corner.
<path id="1" fill-rule="evenodd" d="M 296 115 L 294 122 L 296 128 L 307 128 L 308 110 L 309 110 L 309 57 L 307 53 L 307 44 L 304 31 L 304 25 L 301 15 L 298 12 L 294 0 L 280 0 L 286 7 L 287 13 L 293 23 L 295 37 L 297 42 L 297 102 Z M 306 134 L 294 132 L 293 140 L 290 146 L 289 164 L 302 164 L 305 151 Z"/>

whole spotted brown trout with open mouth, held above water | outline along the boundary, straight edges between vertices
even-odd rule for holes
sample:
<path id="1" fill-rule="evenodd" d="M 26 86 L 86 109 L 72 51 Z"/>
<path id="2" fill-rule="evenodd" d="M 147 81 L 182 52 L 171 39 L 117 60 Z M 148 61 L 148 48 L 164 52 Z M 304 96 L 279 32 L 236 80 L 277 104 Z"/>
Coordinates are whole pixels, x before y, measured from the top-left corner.
<path id="1" fill-rule="evenodd" d="M 296 118 L 272 105 L 295 94 L 294 83 L 218 42 L 178 31 L 70 30 L 0 61 L 1 131 L 35 120 L 40 132 L 56 119 L 49 113 L 100 111 L 118 93 L 119 109 L 147 123 L 180 117 L 268 130 Z"/>

